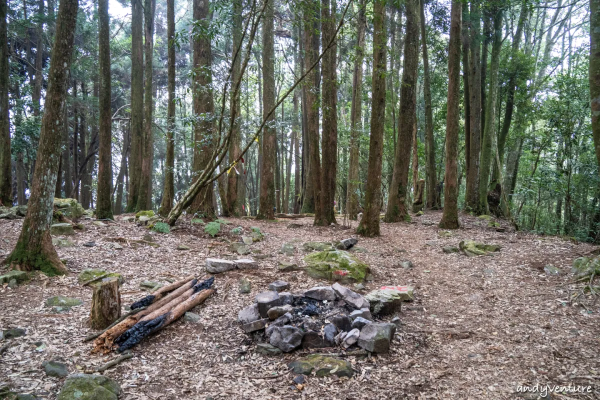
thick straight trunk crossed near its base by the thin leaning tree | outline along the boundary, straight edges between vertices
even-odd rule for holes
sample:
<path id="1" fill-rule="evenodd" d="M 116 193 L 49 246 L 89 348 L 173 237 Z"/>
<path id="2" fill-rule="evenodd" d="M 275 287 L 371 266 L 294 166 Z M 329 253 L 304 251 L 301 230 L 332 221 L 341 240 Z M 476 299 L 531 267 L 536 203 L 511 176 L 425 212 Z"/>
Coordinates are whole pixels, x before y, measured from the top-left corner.
<path id="1" fill-rule="evenodd" d="M 197 121 L 194 125 L 194 178 L 198 176 L 210 163 L 214 150 L 215 128 L 214 128 L 214 100 L 212 97 L 212 52 L 211 38 L 206 34 L 209 26 L 209 2 L 208 0 L 194 0 L 194 20 L 197 28 L 194 29 L 194 115 Z M 199 212 L 206 217 L 215 215 L 212 204 L 212 192 L 214 185 L 206 185 L 194 198 L 190 205 L 192 213 Z"/>

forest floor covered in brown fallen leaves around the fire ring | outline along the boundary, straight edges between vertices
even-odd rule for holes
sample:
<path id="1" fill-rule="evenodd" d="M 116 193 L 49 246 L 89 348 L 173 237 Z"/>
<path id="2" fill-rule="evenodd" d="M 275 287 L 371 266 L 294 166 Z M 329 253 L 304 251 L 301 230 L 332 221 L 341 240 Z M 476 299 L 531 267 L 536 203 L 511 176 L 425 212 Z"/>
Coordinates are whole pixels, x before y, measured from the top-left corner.
<path id="1" fill-rule="evenodd" d="M 255 353 L 254 342 L 236 323 L 239 309 L 252 303 L 256 293 L 268 290 L 275 279 L 289 281 L 292 291 L 317 284 L 301 271 L 278 272 L 278 261 L 302 263 L 305 255 L 301 249 L 291 257 L 278 254 L 283 243 L 353 236 L 353 230 L 341 225 L 313 227 L 312 218 L 275 222 L 228 218 L 232 223 L 224 237 L 239 239 L 229 233 L 233 227 L 246 232 L 260 227 L 266 237 L 250 248 L 269 257 L 259 260 L 257 270 L 217 275 L 217 294 L 193 310 L 200 315 L 199 322 L 176 321 L 137 345 L 132 359 L 104 374 L 121 384 L 120 398 L 128 400 L 533 399 L 537 397 L 517 390 L 535 384 L 591 386 L 591 393 L 552 394 L 553 399 L 600 398 L 600 303 L 588 295 L 576 297 L 574 286 L 569 285 L 574 258 L 590 255 L 596 247 L 515 233 L 504 222 L 506 232 L 501 233 L 488 228 L 487 221 L 464 214 L 459 230 L 451 237 L 439 237 L 441 216 L 441 212 L 427 212 L 413 217 L 413 224 L 382 224 L 381 237 L 359 238 L 358 246 L 367 252 L 357 255 L 370 264 L 374 275 L 363 293 L 381 285 L 409 284 L 415 288 L 415 300 L 398 314 L 401 325 L 389 354 L 350 358 L 355 369 L 352 378 L 311 376 L 301 393 L 292 390 L 294 375 L 286 373 L 287 363 L 305 352 Z M 71 276 L 37 275 L 14 289 L 0 287 L 0 328 L 27 331 L 0 358 L 0 386 L 55 399 L 64 378 L 46 376 L 44 360 L 58 357 L 73 373 L 97 368 L 115 357 L 91 354 L 91 342 L 82 342 L 92 332 L 88 326 L 92 290 L 77 284 L 81 270 L 122 273 L 122 304 L 128 305 L 146 294 L 140 282 L 166 283 L 170 274 L 203 274 L 206 257 L 223 255 L 229 247 L 229 240 L 212 239 L 202 227 L 185 221 L 184 228 L 169 234 L 151 232 L 158 248 L 121 243 L 124 249 L 113 249 L 110 237 L 141 239 L 149 233 L 121 218 L 107 227 L 82 220 L 86 231 L 68 237 L 76 246 L 58 249 L 61 258 L 68 260 Z M 287 229 L 290 222 L 303 226 Z M 20 228 L 20 221 L 0 220 L 0 258 L 13 248 Z M 498 243 L 503 248 L 480 257 L 442 252 L 443 246 L 458 245 L 461 239 Z M 97 245 L 82 246 L 92 240 Z M 178 251 L 180 244 L 191 249 Z M 234 259 L 232 254 L 228 257 Z M 412 261 L 413 269 L 403 269 L 399 265 L 403 260 Z M 546 275 L 543 267 L 548 263 L 562 273 Z M 250 279 L 252 293 L 238 293 L 242 276 Z M 225 288 L 229 279 L 232 284 Z M 52 314 L 44 301 L 55 295 L 76 297 L 84 304 L 65 314 Z"/>

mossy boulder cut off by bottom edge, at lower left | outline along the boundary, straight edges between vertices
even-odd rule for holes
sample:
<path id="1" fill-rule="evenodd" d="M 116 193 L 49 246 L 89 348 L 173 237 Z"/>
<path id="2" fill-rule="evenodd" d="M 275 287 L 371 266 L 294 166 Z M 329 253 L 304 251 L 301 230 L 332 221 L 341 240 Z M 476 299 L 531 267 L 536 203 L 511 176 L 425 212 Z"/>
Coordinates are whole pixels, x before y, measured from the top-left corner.
<path id="1" fill-rule="evenodd" d="M 117 400 L 121 387 L 104 375 L 73 374 L 65 380 L 57 400 Z"/>

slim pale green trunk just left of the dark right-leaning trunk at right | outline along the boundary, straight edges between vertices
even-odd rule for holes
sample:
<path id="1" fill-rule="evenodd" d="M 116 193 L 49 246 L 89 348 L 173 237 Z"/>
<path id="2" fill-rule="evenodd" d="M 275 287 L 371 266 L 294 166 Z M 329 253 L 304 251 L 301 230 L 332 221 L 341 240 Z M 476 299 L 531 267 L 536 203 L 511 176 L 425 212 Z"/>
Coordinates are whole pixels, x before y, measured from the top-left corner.
<path id="1" fill-rule="evenodd" d="M 481 164 L 479 165 L 479 211 L 488 213 L 487 192 L 490 183 L 490 167 L 496 148 L 496 100 L 498 94 L 498 70 L 500 48 L 502 47 L 502 10 L 494 10 L 494 42 L 490 62 L 490 90 L 485 105 L 484 136 L 481 144 Z"/>

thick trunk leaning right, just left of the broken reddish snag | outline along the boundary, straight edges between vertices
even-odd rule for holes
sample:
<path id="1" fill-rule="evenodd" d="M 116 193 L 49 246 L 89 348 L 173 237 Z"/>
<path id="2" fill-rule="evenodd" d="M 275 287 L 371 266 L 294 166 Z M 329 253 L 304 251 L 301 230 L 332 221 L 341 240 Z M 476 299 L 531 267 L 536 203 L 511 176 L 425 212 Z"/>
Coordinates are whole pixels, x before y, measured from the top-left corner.
<path id="1" fill-rule="evenodd" d="M 408 215 L 408 184 L 410 149 L 412 148 L 413 124 L 415 123 L 416 78 L 419 67 L 419 0 L 407 0 L 406 35 L 404 37 L 404 66 L 400 94 L 400 118 L 398 119 L 398 145 L 394 157 L 394 174 L 389 186 L 386 222 L 400 222 Z M 373 124 L 373 121 L 371 121 Z"/>

